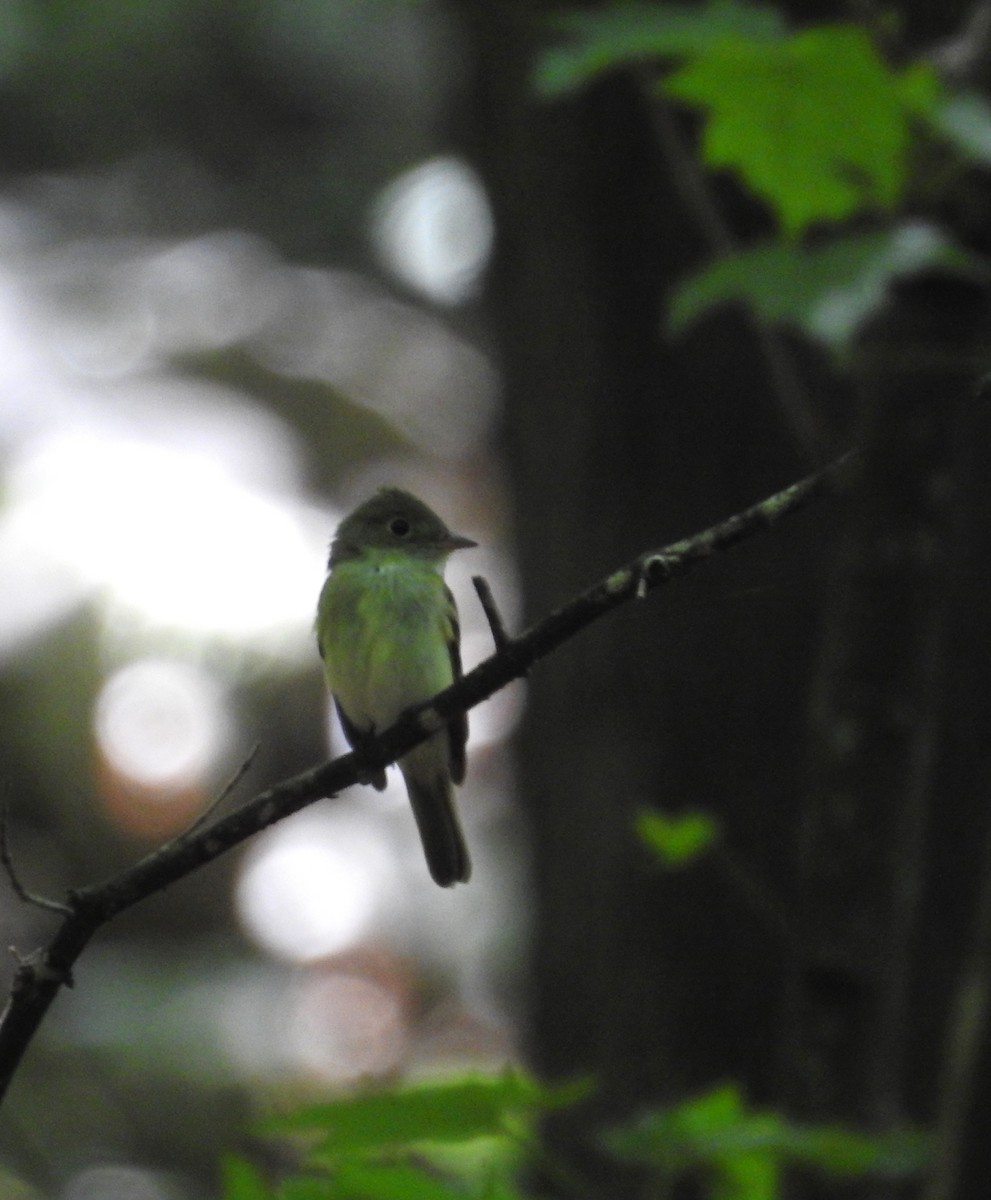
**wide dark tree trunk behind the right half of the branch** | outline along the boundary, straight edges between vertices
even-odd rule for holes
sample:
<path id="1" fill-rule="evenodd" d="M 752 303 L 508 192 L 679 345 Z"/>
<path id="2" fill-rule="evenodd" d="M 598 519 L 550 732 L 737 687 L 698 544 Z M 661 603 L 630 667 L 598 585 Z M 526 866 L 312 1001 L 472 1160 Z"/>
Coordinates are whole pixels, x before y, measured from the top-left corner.
<path id="1" fill-rule="evenodd" d="M 545 104 L 523 30 L 496 6 L 462 11 L 480 54 L 505 454 L 536 614 L 803 464 L 741 323 L 678 343 L 663 334 L 665 295 L 704 246 L 647 98 L 614 78 Z M 788 841 L 816 520 L 714 563 L 680 599 L 619 614 L 530 680 L 519 742 L 535 883 L 527 1040 L 543 1074 L 599 1082 L 554 1132 L 572 1165 L 594 1169 L 602 1122 L 648 1100 L 727 1076 L 758 1093 L 770 1084 L 783 947 L 752 876 L 780 874 Z M 633 834 L 647 808 L 714 812 L 728 856 L 746 865 L 728 878 L 660 872 Z M 732 882 L 741 876 L 743 890 Z"/>

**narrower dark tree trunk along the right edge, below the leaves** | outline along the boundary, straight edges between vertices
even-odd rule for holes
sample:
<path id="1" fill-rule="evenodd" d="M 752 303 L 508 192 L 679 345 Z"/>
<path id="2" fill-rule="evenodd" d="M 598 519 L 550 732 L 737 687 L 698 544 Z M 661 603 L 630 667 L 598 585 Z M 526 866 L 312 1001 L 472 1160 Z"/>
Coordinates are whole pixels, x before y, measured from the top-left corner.
<path id="1" fill-rule="evenodd" d="M 974 550 L 986 542 L 966 505 L 969 445 L 987 424 L 975 391 L 987 328 L 983 289 L 920 278 L 899 289 L 860 354 L 861 460 L 830 583 L 801 830 L 809 954 L 789 990 L 785 1058 L 800 1112 L 872 1128 L 941 1127 L 945 1105 L 963 1100 L 945 1072 L 966 938 L 942 910 L 973 923 L 987 770 L 977 743 L 950 757 L 941 743 L 960 745 L 955 726 L 969 726 L 973 704 L 989 715 L 985 638 L 951 636 L 962 623 L 973 637 L 961 583 L 977 582 Z M 961 672 L 969 697 L 953 685 Z M 974 980 L 985 992 L 986 971 Z"/>

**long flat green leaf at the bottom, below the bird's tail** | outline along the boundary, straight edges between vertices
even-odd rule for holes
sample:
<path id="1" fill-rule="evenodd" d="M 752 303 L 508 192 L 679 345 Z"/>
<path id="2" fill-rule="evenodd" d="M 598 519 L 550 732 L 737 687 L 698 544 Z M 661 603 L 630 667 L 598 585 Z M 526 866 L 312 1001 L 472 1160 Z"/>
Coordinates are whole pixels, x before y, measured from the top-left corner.
<path id="1" fill-rule="evenodd" d="M 274 1117 L 266 1133 L 322 1133 L 331 1153 L 378 1150 L 410 1142 L 461 1142 L 503 1133 L 521 1111 L 570 1103 L 575 1088 L 548 1090 L 528 1076 L 506 1072 L 421 1084 L 388 1092 L 316 1104 Z"/>

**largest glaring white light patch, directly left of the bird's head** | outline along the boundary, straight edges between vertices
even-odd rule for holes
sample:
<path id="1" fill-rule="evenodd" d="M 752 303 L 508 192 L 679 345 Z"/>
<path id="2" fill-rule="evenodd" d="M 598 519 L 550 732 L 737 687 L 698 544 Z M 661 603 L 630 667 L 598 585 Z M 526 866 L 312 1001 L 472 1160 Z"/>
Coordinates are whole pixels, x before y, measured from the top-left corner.
<path id="1" fill-rule="evenodd" d="M 82 427 L 38 439 L 8 486 L 0 566 L 4 546 L 34 546 L 53 564 L 38 578 L 60 565 L 151 624 L 275 643 L 308 631 L 331 521 L 194 448 Z"/>

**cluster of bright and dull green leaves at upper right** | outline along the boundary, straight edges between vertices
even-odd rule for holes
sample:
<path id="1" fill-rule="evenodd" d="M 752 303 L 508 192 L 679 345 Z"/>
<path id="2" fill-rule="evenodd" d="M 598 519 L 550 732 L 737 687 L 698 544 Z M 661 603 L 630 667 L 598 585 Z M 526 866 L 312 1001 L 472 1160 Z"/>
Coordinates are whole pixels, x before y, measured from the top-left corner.
<path id="1" fill-rule="evenodd" d="M 762 325 L 791 325 L 843 362 L 891 281 L 926 268 L 986 277 L 984 253 L 961 241 L 966 230 L 945 228 L 944 210 L 967 172 L 991 161 L 991 106 L 945 55 L 905 61 L 855 23 L 792 29 L 749 0 L 626 0 L 560 13 L 552 30 L 535 66 L 540 95 L 554 100 L 620 68 L 659 103 L 661 145 L 693 193 L 687 209 L 713 256 L 674 287 L 671 332 L 741 302 Z M 697 160 L 677 144 L 672 102 L 696 113 Z M 733 174 L 776 232 L 738 246 L 695 179 L 698 162 Z M 793 428 L 815 445 L 794 372 L 762 341 Z"/>

